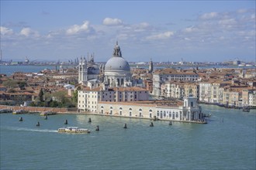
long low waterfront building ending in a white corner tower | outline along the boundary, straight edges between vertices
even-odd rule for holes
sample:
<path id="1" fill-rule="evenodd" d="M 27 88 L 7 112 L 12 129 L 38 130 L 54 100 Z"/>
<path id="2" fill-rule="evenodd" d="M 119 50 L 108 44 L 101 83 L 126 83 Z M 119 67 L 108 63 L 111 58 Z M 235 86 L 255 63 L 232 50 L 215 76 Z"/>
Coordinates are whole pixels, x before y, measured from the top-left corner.
<path id="1" fill-rule="evenodd" d="M 201 107 L 197 98 L 187 97 L 183 106 L 170 107 L 168 105 L 154 104 L 147 101 L 142 103 L 99 102 L 98 114 L 114 115 L 120 117 L 140 117 L 165 121 L 204 122 Z"/>

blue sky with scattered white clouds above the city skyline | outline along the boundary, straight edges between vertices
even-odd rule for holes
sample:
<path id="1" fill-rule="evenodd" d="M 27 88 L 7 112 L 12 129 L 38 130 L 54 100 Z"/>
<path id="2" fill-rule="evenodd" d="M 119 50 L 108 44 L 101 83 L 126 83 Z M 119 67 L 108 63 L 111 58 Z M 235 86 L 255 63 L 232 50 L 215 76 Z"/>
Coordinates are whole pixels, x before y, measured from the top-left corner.
<path id="1" fill-rule="evenodd" d="M 5 1 L 2 60 L 255 62 L 255 1 Z"/>

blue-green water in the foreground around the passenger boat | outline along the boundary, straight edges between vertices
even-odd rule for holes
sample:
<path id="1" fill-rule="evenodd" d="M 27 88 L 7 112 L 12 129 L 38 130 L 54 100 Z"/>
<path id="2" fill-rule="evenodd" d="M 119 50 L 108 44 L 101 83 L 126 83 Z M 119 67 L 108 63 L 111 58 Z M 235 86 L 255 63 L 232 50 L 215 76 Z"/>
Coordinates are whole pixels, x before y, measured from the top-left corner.
<path id="1" fill-rule="evenodd" d="M 255 169 L 255 110 L 202 110 L 212 114 L 208 124 L 154 121 L 154 127 L 121 117 L 0 114 L 0 169 Z M 66 119 L 92 133 L 57 133 Z"/>

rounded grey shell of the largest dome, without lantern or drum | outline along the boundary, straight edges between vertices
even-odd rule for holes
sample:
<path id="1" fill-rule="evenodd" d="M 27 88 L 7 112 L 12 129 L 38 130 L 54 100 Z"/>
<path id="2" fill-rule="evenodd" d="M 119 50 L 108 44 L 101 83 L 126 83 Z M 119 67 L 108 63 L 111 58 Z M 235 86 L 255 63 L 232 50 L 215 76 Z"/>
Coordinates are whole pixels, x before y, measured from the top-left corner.
<path id="1" fill-rule="evenodd" d="M 120 56 L 112 56 L 105 65 L 105 71 L 130 71 L 130 65 Z"/>

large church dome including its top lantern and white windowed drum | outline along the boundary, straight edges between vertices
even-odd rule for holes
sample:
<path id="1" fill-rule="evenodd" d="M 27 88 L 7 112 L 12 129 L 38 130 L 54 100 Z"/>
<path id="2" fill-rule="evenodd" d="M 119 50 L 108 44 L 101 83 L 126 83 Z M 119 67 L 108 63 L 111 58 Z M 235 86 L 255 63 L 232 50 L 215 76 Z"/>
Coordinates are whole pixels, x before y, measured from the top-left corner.
<path id="1" fill-rule="evenodd" d="M 104 83 L 109 85 L 109 87 L 132 86 L 130 65 L 126 59 L 123 58 L 118 42 L 116 42 L 112 57 L 105 65 Z"/>

